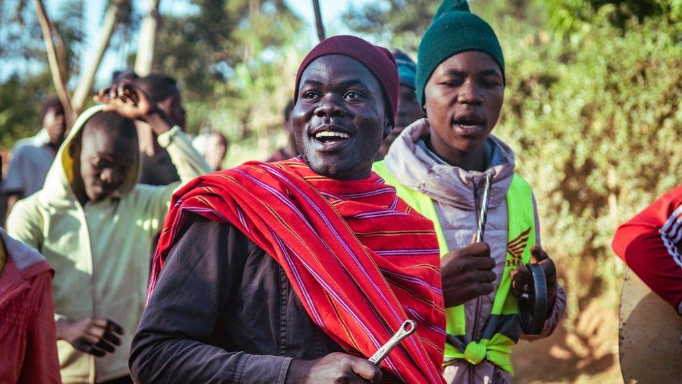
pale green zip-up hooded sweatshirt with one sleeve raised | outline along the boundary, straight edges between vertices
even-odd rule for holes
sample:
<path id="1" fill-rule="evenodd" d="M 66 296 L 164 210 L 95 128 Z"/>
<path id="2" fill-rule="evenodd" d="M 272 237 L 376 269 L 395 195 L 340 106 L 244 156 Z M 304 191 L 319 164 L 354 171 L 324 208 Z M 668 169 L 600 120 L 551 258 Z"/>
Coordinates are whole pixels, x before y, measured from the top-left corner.
<path id="1" fill-rule="evenodd" d="M 82 113 L 59 148 L 43 189 L 18 201 L 8 218 L 11 236 L 45 255 L 55 269 L 55 319 L 110 318 L 124 328 L 121 346 L 94 357 L 58 341 L 64 383 L 97 383 L 129 374 L 130 344 L 145 307 L 150 245 L 164 224 L 170 197 L 192 178 L 211 171 L 178 128 L 159 136 L 181 181 L 136 184 L 138 157 L 125 183 L 101 201 L 81 206 L 73 192 L 76 174 L 69 148 L 85 122 L 103 106 Z"/>

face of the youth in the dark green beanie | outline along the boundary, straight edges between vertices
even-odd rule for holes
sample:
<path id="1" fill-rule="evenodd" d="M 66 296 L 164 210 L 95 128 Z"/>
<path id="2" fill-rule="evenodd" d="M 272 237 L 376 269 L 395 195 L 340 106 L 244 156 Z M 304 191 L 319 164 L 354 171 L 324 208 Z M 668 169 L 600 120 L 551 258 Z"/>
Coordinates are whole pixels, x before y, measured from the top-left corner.
<path id="1" fill-rule="evenodd" d="M 484 52 L 458 53 L 436 67 L 424 97 L 431 143 L 441 157 L 481 150 L 505 98 L 500 66 Z"/>

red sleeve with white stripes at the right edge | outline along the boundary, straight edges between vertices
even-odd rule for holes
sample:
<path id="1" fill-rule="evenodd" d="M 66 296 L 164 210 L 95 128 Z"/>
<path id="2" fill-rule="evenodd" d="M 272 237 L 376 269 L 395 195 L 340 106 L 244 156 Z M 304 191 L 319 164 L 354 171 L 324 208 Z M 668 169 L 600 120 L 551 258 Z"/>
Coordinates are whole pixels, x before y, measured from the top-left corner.
<path id="1" fill-rule="evenodd" d="M 653 292 L 680 311 L 682 301 L 682 187 L 625 222 L 613 248 Z"/>

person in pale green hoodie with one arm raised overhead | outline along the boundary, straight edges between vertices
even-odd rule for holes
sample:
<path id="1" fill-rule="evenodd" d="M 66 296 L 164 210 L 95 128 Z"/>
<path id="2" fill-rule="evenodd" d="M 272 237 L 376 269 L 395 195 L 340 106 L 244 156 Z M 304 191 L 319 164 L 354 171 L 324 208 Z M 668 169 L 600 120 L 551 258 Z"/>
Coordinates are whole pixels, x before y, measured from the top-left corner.
<path id="1" fill-rule="evenodd" d="M 136 184 L 132 119 L 154 129 L 186 183 L 210 167 L 180 127 L 131 83 L 100 92 L 57 152 L 45 187 L 15 205 L 8 233 L 54 266 L 55 320 L 64 383 L 130 382 L 126 364 L 145 306 L 152 236 L 166 218 L 167 186 Z"/>

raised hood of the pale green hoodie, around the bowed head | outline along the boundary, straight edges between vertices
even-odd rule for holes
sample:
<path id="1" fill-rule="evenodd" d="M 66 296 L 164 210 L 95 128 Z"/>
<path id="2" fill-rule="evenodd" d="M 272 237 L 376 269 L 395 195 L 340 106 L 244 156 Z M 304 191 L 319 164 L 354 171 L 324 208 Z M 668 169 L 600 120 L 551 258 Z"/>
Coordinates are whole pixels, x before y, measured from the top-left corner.
<path id="1" fill-rule="evenodd" d="M 80 138 L 85 123 L 97 113 L 101 113 L 103 109 L 103 105 L 88 108 L 73 123 L 68 136 L 66 136 L 64 143 L 61 143 L 57 151 L 55 162 L 50 166 L 48 176 L 45 177 L 43 189 L 38 192 L 38 199 L 40 199 L 41 203 L 51 206 L 70 206 L 77 201 L 75 192 L 73 192 L 73 185 L 75 180 L 80 178 L 80 174 L 77 171 L 80 168 L 78 166 L 80 163 L 80 149 L 75 150 L 75 156 L 72 156 L 71 147 L 73 145 L 80 145 Z M 135 187 L 139 173 L 140 156 L 138 154 L 124 183 L 106 199 L 119 198 L 124 194 L 128 194 Z"/>

